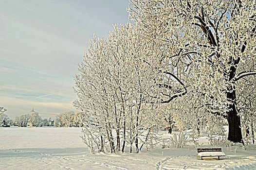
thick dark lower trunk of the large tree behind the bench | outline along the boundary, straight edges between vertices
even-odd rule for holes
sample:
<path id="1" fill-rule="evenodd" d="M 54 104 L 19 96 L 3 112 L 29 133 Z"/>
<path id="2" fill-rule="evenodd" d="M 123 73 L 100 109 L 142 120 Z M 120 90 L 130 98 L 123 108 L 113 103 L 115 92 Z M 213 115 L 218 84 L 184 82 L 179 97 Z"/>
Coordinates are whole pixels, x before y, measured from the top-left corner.
<path id="1" fill-rule="evenodd" d="M 227 120 L 228 120 L 228 140 L 232 142 L 242 142 L 242 132 L 241 132 L 241 122 L 238 116 L 238 111 L 236 108 L 236 90 L 235 86 L 232 89 L 227 90 L 227 99 L 231 102 L 228 105 Z"/>

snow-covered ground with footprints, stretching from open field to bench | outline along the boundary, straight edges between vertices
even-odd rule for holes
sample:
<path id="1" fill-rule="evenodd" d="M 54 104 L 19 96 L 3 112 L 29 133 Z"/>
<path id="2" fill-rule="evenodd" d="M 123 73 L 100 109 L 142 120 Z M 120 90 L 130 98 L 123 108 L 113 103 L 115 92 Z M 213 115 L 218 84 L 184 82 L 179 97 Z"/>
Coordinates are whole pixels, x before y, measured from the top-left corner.
<path id="1" fill-rule="evenodd" d="M 253 149 L 222 147 L 220 160 L 201 160 L 192 146 L 89 154 L 80 135 L 80 128 L 0 128 L 0 170 L 256 170 Z"/>

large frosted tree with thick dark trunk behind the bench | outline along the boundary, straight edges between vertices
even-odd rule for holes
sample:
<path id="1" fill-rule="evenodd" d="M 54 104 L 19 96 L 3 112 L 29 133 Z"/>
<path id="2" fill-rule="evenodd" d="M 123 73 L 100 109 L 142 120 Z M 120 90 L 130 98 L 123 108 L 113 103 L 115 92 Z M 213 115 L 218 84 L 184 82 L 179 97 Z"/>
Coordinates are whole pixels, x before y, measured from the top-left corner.
<path id="1" fill-rule="evenodd" d="M 160 61 L 183 96 L 196 85 L 208 110 L 224 115 L 228 139 L 242 142 L 236 89 L 240 80 L 255 75 L 240 69 L 256 56 L 255 0 L 130 0 L 130 19 L 162 51 Z M 180 85 L 180 86 L 177 86 Z M 180 88 L 177 88 L 180 87 Z M 183 88 L 182 88 L 183 87 Z M 175 92 L 175 91 L 174 91 Z M 172 99 L 172 98 L 170 98 Z M 171 100 L 166 102 L 170 102 Z"/>

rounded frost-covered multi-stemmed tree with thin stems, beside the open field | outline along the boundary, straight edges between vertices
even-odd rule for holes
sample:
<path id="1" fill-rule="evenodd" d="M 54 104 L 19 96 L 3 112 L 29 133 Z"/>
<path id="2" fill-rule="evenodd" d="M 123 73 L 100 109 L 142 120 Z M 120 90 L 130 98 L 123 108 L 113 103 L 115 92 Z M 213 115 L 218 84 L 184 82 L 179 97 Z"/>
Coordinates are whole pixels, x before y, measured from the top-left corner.
<path id="1" fill-rule="evenodd" d="M 154 44 L 141 34 L 136 26 L 126 24 L 115 25 L 107 40 L 94 36 L 75 76 L 74 106 L 90 118 L 83 122 L 84 131 L 98 134 L 91 135 L 98 146 L 106 138 L 111 152 L 124 152 L 128 144 L 130 152 L 135 145 L 138 153 L 140 130 L 165 126 L 163 112 L 158 113 L 159 105 L 153 104 L 159 102 L 159 87 L 164 86 L 155 57 L 161 51 L 154 51 Z M 91 146 L 86 136 L 82 138 Z"/>

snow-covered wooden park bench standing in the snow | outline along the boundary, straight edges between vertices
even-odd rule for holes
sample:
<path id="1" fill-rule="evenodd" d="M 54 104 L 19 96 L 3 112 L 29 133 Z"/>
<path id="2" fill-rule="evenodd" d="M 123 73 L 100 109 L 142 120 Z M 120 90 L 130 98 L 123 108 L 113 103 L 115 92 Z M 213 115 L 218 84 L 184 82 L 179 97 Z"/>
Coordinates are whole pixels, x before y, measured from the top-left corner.
<path id="1" fill-rule="evenodd" d="M 226 156 L 221 148 L 197 148 L 197 153 L 201 156 L 201 160 L 203 157 L 218 156 L 219 159 L 220 156 Z"/>

